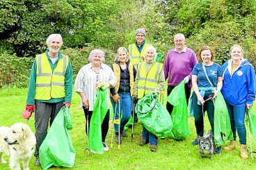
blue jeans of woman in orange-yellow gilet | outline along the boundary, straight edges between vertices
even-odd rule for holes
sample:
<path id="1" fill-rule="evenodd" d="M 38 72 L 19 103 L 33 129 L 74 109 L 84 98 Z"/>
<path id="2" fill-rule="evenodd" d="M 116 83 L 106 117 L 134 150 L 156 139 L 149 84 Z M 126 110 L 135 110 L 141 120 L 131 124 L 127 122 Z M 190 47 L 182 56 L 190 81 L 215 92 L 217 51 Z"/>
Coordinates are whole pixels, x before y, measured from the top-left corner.
<path id="1" fill-rule="evenodd" d="M 120 112 L 122 112 L 122 119 L 121 119 L 121 123 L 120 123 L 120 129 L 125 128 L 125 124 L 127 124 L 127 122 L 129 121 L 130 117 L 131 117 L 131 93 L 127 93 L 127 94 L 118 94 L 120 97 L 120 104 L 117 103 L 116 106 L 116 113 L 115 113 L 115 119 L 118 119 L 119 117 L 119 110 Z M 111 103 L 113 105 L 113 111 L 115 112 L 115 102 L 113 101 L 113 98 L 111 97 Z M 119 108 L 120 107 L 120 108 Z M 120 115 L 121 117 L 121 115 Z M 115 124 L 115 132 L 119 132 L 118 129 L 118 124 Z"/>

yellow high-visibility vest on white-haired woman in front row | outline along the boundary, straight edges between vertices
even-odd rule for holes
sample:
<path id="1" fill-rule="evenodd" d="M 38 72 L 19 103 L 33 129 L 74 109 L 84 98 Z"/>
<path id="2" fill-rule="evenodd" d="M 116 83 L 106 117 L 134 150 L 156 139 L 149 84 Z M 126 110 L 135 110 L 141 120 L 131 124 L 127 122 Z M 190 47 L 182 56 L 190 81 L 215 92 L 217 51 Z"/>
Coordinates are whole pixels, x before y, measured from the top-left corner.
<path id="1" fill-rule="evenodd" d="M 155 88 L 157 88 L 159 77 L 163 69 L 163 64 L 154 62 L 154 65 L 150 68 L 150 71 L 145 71 L 145 62 L 138 64 L 138 99 L 143 98 L 146 94 L 152 94 Z"/>

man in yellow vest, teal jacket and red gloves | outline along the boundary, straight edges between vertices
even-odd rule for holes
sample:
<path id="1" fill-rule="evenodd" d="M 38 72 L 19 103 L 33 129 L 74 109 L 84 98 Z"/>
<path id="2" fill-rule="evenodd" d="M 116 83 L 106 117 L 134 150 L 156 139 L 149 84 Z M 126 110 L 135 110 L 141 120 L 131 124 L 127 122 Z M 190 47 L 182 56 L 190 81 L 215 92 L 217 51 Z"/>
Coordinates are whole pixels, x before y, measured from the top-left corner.
<path id="1" fill-rule="evenodd" d="M 40 166 L 39 148 L 49 123 L 53 123 L 63 105 L 70 106 L 72 99 L 72 65 L 60 52 L 62 37 L 51 34 L 46 42 L 48 49 L 45 53 L 35 56 L 26 100 L 26 111 L 35 111 L 36 166 Z"/>

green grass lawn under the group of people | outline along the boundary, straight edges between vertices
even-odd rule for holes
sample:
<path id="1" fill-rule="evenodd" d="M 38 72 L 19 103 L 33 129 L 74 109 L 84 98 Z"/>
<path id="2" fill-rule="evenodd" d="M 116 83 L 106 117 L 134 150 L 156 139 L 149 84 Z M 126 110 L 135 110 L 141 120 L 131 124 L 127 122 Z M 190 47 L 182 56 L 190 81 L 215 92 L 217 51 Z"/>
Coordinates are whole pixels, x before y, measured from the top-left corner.
<path id="1" fill-rule="evenodd" d="M 98 155 L 85 151 L 87 137 L 85 133 L 85 117 L 79 110 L 79 95 L 73 94 L 72 114 L 73 129 L 70 130 L 72 142 L 76 151 L 76 160 L 71 169 L 256 169 L 256 160 L 250 157 L 241 160 L 239 156 L 239 144 L 234 151 L 222 151 L 221 155 L 213 155 L 211 159 L 201 159 L 198 146 L 192 146 L 195 139 L 194 119 L 189 117 L 191 135 L 184 141 L 177 142 L 173 139 L 159 139 L 157 153 L 150 152 L 150 145 L 138 146 L 141 139 L 141 124 L 134 127 L 134 142 L 131 143 L 131 129 L 127 130 L 129 137 L 125 137 L 120 149 L 114 143 L 113 148 L 104 155 Z M 33 132 L 34 117 L 29 121 L 22 118 L 22 112 L 26 105 L 26 89 L 0 90 L 0 126 L 11 126 L 16 122 L 29 124 Z M 209 130 L 209 121 L 205 117 L 206 131 Z M 112 125 L 106 137 L 106 143 L 110 147 Z M 247 137 L 248 139 L 248 137 Z M 249 142 L 248 142 L 249 145 Z M 253 148 L 256 149 L 255 142 Z M 250 155 L 249 155 L 250 156 Z M 8 160 L 8 156 L 4 156 Z M 35 158 L 31 159 L 30 169 L 40 169 L 34 166 Z M 8 169 L 8 164 L 0 164 L 0 169 Z M 70 169 L 70 168 L 52 168 Z"/>

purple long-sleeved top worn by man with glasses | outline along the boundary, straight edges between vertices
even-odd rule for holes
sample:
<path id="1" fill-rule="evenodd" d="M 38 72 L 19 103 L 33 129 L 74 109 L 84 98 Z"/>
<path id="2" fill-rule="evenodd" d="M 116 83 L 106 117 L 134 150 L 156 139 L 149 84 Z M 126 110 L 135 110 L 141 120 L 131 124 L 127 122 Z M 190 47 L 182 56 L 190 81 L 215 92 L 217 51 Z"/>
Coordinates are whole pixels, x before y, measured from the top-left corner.
<path id="1" fill-rule="evenodd" d="M 169 77 L 168 86 L 177 86 L 186 76 L 189 76 L 187 87 L 192 87 L 191 72 L 197 63 L 198 59 L 192 49 L 185 46 L 181 53 L 176 49 L 170 49 L 163 64 L 164 78 Z"/>

